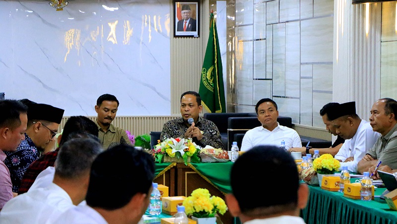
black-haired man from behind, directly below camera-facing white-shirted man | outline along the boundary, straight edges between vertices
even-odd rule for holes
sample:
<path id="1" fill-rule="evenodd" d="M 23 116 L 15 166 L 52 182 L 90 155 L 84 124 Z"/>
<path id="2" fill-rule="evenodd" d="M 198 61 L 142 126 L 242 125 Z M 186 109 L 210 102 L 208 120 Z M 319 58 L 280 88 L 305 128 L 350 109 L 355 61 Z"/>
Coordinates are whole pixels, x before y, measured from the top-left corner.
<path id="1" fill-rule="evenodd" d="M 260 194 L 247 190 L 247 186 L 258 185 L 258 175 L 253 170 L 265 170 L 279 176 L 277 185 L 288 190 L 272 193 L 272 184 L 258 188 Z M 242 223 L 305 223 L 299 214 L 306 207 L 309 188 L 305 183 L 299 183 L 298 169 L 291 155 L 278 147 L 255 146 L 241 155 L 230 172 L 230 185 L 233 193 L 226 195 L 226 203 L 232 216 L 239 217 Z"/>

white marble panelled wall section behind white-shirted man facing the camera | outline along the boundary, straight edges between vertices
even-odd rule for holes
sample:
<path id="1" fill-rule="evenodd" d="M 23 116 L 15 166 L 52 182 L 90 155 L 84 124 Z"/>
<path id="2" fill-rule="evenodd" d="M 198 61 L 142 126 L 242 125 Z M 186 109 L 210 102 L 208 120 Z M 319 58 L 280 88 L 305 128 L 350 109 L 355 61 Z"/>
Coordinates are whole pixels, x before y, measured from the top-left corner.
<path id="1" fill-rule="evenodd" d="M 272 98 L 294 123 L 324 127 L 319 111 L 332 101 L 333 1 L 237 0 L 236 36 L 236 111 L 254 112 L 260 99 Z"/>

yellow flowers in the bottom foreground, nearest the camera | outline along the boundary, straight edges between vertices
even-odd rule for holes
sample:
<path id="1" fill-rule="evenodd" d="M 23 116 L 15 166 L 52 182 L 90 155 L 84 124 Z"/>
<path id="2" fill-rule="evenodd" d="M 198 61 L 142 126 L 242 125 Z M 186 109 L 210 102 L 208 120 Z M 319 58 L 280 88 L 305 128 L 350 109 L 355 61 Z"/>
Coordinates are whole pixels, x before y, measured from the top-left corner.
<path id="1" fill-rule="evenodd" d="M 211 196 L 207 189 L 199 188 L 192 192 L 191 196 L 183 201 L 185 213 L 196 218 L 215 217 L 216 213 L 221 215 L 227 211 L 225 201 L 216 196 Z"/>

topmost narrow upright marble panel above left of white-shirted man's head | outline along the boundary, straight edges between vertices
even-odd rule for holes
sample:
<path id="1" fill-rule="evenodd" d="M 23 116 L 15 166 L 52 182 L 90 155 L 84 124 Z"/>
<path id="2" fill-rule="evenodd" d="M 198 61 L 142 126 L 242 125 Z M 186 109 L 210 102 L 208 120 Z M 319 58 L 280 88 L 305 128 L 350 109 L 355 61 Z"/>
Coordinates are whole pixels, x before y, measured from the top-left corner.
<path id="1" fill-rule="evenodd" d="M 254 5 L 254 40 L 266 38 L 266 3 Z"/>

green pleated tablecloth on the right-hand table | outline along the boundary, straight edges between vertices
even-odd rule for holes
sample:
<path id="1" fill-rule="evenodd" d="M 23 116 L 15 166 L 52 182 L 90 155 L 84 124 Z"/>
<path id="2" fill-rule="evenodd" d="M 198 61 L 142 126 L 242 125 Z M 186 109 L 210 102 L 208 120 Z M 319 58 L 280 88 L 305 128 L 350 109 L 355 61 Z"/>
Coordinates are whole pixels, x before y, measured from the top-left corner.
<path id="1" fill-rule="evenodd" d="M 352 180 L 352 182 L 354 179 Z M 310 185 L 307 207 L 301 216 L 307 224 L 397 224 L 397 211 L 389 209 L 386 201 L 353 200 L 341 192 L 331 192 Z M 386 188 L 375 189 L 379 196 Z"/>

